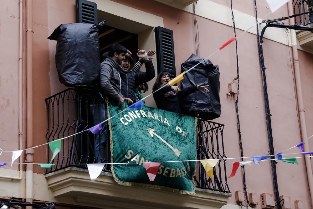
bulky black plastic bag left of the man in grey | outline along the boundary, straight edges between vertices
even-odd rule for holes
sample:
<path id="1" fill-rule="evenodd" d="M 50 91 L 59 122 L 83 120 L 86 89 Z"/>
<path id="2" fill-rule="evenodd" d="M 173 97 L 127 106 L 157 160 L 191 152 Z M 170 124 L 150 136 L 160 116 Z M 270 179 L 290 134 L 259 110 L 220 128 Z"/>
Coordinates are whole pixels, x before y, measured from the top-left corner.
<path id="1" fill-rule="evenodd" d="M 48 37 L 56 40 L 55 64 L 65 86 L 94 86 L 100 74 L 99 24 L 61 24 Z"/>

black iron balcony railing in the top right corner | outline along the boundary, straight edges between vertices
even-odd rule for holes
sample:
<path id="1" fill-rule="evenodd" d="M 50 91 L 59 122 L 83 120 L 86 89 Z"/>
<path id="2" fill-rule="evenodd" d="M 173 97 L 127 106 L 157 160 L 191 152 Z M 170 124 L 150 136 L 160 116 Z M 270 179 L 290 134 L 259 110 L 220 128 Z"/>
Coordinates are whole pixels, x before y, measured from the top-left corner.
<path id="1" fill-rule="evenodd" d="M 292 0 L 294 14 L 301 14 L 309 11 L 309 6 L 306 0 Z M 311 5 L 310 5 L 311 6 Z M 313 14 L 312 18 L 313 18 Z M 309 13 L 295 17 L 295 24 L 308 25 L 313 23 L 312 18 L 310 19 Z"/>

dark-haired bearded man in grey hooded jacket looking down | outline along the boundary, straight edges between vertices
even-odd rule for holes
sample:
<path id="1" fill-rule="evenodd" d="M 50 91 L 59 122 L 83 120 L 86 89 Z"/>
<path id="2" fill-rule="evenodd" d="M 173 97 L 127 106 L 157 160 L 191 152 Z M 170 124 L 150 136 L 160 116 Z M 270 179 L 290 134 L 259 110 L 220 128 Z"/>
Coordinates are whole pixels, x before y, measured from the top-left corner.
<path id="1" fill-rule="evenodd" d="M 121 106 L 124 101 L 131 104 L 133 101 L 124 98 L 121 94 L 121 62 L 125 59 L 127 49 L 121 44 L 113 44 L 109 57 L 100 64 L 100 84 L 109 101 L 114 105 Z"/>

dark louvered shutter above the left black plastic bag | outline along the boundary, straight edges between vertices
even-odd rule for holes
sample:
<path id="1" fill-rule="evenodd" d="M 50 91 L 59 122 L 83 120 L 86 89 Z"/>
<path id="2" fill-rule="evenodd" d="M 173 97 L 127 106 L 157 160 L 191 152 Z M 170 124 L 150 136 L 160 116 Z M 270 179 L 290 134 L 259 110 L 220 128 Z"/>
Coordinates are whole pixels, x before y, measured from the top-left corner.
<path id="1" fill-rule="evenodd" d="M 76 0 L 76 23 L 98 23 L 97 4 L 86 0 Z"/>

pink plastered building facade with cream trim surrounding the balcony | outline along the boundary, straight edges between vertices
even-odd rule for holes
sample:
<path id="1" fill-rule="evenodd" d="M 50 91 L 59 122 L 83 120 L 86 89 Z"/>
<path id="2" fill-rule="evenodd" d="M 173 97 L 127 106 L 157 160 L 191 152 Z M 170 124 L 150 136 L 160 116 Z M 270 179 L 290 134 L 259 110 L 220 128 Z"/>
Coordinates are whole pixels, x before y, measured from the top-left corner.
<path id="1" fill-rule="evenodd" d="M 231 2 L 228 0 L 96 0 L 93 2 L 98 7 L 98 21 L 106 20 L 106 24 L 110 27 L 137 34 L 140 49 L 156 49 L 153 30 L 155 27 L 161 26 L 172 30 L 177 75 L 180 74 L 181 64 L 192 53 L 196 53 L 196 49 L 198 56 L 205 58 L 234 36 Z M 60 24 L 76 22 L 75 1 L 3 0 L 0 5 L 0 148 L 4 151 L 20 150 L 47 142 L 45 98 L 67 89 L 59 82 L 55 67 L 56 41 L 49 40 L 47 37 Z M 292 1 L 272 14 L 269 14 L 270 9 L 265 0 L 257 0 L 256 5 L 259 19 L 287 17 L 294 12 Z M 232 6 L 236 34 L 239 36 L 255 24 L 255 5 L 254 1 L 233 1 Z M 196 33 L 194 18 L 197 20 Z M 290 19 L 283 22 L 290 24 Z M 259 25 L 259 31 L 264 25 Z M 244 157 L 270 154 L 256 33 L 256 27 L 253 27 L 238 38 L 240 75 L 238 109 Z M 313 34 L 300 36 L 301 31 L 293 33 L 289 29 L 268 28 L 264 34 L 263 53 L 267 68 L 275 153 L 293 147 L 301 143 L 305 135 L 309 137 L 313 134 L 313 108 L 311 108 Z M 223 131 L 225 154 L 229 158 L 237 158 L 240 157 L 240 149 L 235 109 L 236 95 L 232 99 L 226 95 L 228 83 L 238 83 L 237 80 L 233 81 L 237 76 L 235 42 L 209 59 L 213 64 L 219 65 L 220 71 L 221 117 L 214 119 L 213 122 L 225 125 Z M 154 65 L 156 67 L 156 59 Z M 149 83 L 151 89 L 152 83 L 153 81 Z M 151 92 L 150 90 L 147 94 Z M 299 98 L 301 97 L 299 92 L 302 98 Z M 301 101 L 304 110 L 301 108 Z M 146 104 L 155 107 L 152 97 L 146 99 Z M 307 145 L 307 149 L 313 150 L 310 140 L 306 142 L 305 146 Z M 286 153 L 298 152 L 298 148 L 293 148 Z M 301 156 L 300 154 L 286 155 L 286 158 Z M 3 152 L 0 161 L 11 162 L 11 158 L 12 153 Z M 226 161 L 228 175 L 232 170 L 230 163 L 239 161 L 240 159 Z M 278 162 L 277 184 L 280 196 L 285 199 L 285 208 L 312 208 L 309 185 L 313 183 L 310 182 L 313 176 L 311 176 L 310 160 L 306 163 L 305 158 L 298 158 L 299 165 L 276 161 Z M 86 180 L 80 181 L 79 184 L 88 185 L 88 172 L 77 171 L 80 177 L 75 177 L 74 171 L 57 177 L 51 174 L 45 175 L 44 169 L 29 163 L 47 162 L 47 147 L 23 152 L 15 162 L 28 163 L 28 165 L 14 164 L 12 170 L 10 170 L 11 165 L 0 168 L 1 198 L 56 202 L 59 208 L 75 205 L 85 208 L 232 209 L 240 208 L 235 192 L 239 191 L 239 194 L 243 194 L 240 191 L 244 191 L 240 168 L 234 177 L 227 180 L 231 195 L 196 190 L 196 197 L 190 199 L 191 197 L 177 194 L 162 194 L 164 195 L 162 196 L 159 191 L 152 189 L 134 189 L 134 191 L 132 188 L 125 189 L 115 185 L 111 176 L 103 177 L 101 184 L 91 185 L 88 189 L 78 188 L 75 184 L 62 187 L 67 185 L 69 179 L 84 179 L 86 175 Z M 256 194 L 254 200 L 258 202 L 255 206 L 251 205 L 251 208 L 263 208 L 262 194 L 274 195 L 270 161 L 261 162 L 260 165 L 245 166 L 245 178 L 247 194 Z M 106 191 L 105 194 L 97 192 L 101 188 L 105 190 L 106 186 L 111 192 Z M 130 196 L 129 193 L 117 195 L 123 190 L 138 196 Z M 100 199 L 101 203 L 95 203 L 95 198 Z M 162 204 L 159 204 L 160 202 Z M 150 203 L 154 203 L 155 207 L 150 207 Z M 245 204 L 246 201 L 242 203 Z"/>

